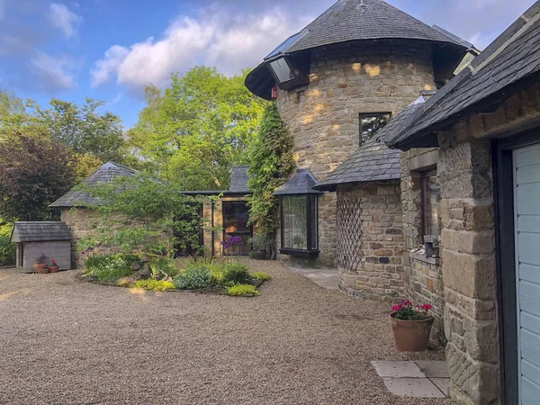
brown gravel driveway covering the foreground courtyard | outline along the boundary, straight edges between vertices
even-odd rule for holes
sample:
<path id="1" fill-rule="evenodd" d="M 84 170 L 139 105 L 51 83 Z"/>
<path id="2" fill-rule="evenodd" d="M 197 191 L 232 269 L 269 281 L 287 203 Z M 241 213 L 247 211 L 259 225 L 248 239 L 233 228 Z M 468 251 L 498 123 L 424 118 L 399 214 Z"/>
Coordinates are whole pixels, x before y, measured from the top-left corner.
<path id="1" fill-rule="evenodd" d="M 386 391 L 371 360 L 444 358 L 396 351 L 387 305 L 248 264 L 252 299 L 0 270 L 0 403 L 453 403 Z"/>

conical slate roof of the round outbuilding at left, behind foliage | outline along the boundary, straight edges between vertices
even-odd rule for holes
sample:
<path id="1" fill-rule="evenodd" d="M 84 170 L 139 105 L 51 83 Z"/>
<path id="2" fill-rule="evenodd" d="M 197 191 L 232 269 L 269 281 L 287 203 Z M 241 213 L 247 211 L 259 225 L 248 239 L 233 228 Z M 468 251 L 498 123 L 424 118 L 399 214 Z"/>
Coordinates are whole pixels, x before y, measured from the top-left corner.
<path id="1" fill-rule="evenodd" d="M 88 178 L 86 178 L 83 183 L 112 183 L 112 181 L 116 178 L 130 177 L 132 175 L 136 175 L 137 173 L 138 172 L 136 170 L 133 170 L 128 166 L 119 165 L 118 163 L 114 162 L 107 162 L 98 168 L 94 175 L 90 175 Z M 84 191 L 79 191 L 76 189 L 76 187 L 74 187 L 49 206 L 53 208 L 63 208 L 84 206 L 85 204 L 91 203 L 95 203 L 95 200 L 90 196 L 90 194 L 85 193 Z"/>

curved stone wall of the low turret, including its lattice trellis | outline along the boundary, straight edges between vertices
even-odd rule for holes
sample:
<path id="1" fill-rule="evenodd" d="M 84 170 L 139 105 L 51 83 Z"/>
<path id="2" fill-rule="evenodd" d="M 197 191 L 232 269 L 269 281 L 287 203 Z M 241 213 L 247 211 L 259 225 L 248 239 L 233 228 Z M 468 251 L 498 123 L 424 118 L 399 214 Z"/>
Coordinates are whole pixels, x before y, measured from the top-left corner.
<path id="1" fill-rule="evenodd" d="M 384 302 L 405 296 L 399 181 L 338 186 L 339 288 Z"/>

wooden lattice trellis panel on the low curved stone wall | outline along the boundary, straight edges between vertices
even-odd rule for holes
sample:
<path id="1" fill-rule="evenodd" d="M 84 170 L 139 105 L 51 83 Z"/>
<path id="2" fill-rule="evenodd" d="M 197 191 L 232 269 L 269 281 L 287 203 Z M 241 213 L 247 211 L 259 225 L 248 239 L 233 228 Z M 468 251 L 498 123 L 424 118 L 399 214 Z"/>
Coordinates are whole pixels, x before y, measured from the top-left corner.
<path id="1" fill-rule="evenodd" d="M 357 270 L 362 266 L 362 208 L 359 200 L 339 200 L 336 228 L 338 266 Z"/>

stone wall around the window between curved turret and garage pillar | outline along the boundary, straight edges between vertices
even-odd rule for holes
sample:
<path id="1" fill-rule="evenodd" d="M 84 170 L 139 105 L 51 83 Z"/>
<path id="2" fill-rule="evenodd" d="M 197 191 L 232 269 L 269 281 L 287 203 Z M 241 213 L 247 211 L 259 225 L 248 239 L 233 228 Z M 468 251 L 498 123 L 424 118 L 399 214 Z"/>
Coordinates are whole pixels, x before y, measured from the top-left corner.
<path id="1" fill-rule="evenodd" d="M 403 255 L 403 281 L 405 295 L 410 301 L 419 304 L 429 303 L 433 306 L 431 312 L 435 320 L 431 338 L 444 345 L 446 343 L 443 320 L 445 298 L 441 260 L 411 252 L 419 247 L 423 237 L 420 173 L 435 168 L 437 160 L 437 148 L 410 149 L 401 153 L 401 206 L 406 245 Z M 437 166 L 437 177 L 438 173 Z"/>

